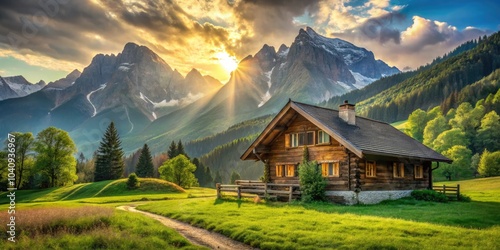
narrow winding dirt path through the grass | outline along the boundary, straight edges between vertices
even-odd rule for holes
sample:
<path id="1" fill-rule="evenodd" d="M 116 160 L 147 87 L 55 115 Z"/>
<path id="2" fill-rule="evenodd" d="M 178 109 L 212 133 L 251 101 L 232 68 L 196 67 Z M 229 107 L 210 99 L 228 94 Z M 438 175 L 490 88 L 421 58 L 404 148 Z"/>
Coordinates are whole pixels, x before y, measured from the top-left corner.
<path id="1" fill-rule="evenodd" d="M 246 244 L 232 240 L 224 235 L 210 232 L 202 228 L 194 227 L 187 223 L 176 221 L 174 219 L 170 219 L 161 215 L 140 211 L 132 206 L 119 206 L 117 207 L 117 209 L 140 213 L 149 216 L 161 222 L 163 225 L 174 229 L 175 231 L 180 233 L 182 236 L 184 236 L 186 239 L 188 239 L 191 243 L 195 245 L 205 246 L 211 249 L 229 249 L 229 250 L 254 249 Z"/>

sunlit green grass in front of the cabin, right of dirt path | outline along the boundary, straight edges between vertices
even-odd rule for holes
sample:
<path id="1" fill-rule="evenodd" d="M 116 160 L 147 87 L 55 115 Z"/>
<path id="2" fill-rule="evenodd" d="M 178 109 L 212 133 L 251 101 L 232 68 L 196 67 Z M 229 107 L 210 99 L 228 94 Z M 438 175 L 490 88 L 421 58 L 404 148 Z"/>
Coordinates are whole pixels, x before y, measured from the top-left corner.
<path id="1" fill-rule="evenodd" d="M 472 202 L 409 198 L 340 206 L 212 198 L 154 202 L 139 209 L 261 249 L 499 249 L 500 177 L 460 184 Z"/>

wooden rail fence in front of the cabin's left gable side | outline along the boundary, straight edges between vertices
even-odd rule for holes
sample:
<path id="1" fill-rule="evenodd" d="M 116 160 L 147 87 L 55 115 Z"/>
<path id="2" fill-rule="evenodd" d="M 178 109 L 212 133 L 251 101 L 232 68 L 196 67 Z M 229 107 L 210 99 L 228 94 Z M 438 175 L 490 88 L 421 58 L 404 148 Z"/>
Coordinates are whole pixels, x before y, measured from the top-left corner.
<path id="1" fill-rule="evenodd" d="M 225 185 L 217 183 L 217 198 L 222 197 L 222 192 L 233 192 L 241 199 L 242 194 L 255 194 L 261 197 L 287 197 L 292 201 L 293 197 L 300 196 L 299 184 L 276 184 L 264 183 L 253 180 L 237 180 L 234 185 Z"/>

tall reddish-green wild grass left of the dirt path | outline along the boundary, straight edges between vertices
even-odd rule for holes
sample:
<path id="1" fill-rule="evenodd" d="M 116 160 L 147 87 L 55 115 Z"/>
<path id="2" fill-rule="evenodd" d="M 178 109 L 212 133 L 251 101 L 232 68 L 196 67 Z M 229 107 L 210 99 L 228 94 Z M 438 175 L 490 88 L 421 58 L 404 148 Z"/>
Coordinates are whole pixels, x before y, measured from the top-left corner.
<path id="1" fill-rule="evenodd" d="M 17 242 L 2 239 L 0 249 L 200 249 L 153 219 L 109 207 L 19 209 L 16 220 Z"/>

